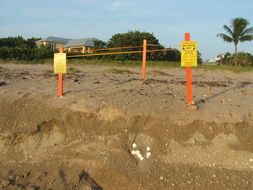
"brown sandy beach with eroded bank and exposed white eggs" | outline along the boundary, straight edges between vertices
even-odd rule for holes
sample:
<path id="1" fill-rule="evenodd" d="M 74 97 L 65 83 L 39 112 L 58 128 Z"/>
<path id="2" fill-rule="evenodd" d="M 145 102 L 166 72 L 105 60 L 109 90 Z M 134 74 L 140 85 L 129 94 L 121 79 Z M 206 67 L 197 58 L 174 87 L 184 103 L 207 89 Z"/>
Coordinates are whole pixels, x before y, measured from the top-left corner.
<path id="1" fill-rule="evenodd" d="M 3 189 L 253 189 L 253 75 L 0 64 Z M 119 72 L 124 70 L 124 72 Z M 60 188 L 59 188 L 60 187 Z M 1 189 L 0 188 L 0 189 Z"/>

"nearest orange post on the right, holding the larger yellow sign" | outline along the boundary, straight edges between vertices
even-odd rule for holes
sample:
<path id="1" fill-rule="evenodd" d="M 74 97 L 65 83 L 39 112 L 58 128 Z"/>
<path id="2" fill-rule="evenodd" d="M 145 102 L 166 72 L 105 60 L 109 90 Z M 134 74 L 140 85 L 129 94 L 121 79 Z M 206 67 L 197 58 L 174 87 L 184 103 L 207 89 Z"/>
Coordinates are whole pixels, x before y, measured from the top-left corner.
<path id="1" fill-rule="evenodd" d="M 185 33 L 185 41 L 190 41 L 190 33 Z M 192 100 L 192 68 L 186 67 L 186 97 L 187 104 L 193 104 Z"/>

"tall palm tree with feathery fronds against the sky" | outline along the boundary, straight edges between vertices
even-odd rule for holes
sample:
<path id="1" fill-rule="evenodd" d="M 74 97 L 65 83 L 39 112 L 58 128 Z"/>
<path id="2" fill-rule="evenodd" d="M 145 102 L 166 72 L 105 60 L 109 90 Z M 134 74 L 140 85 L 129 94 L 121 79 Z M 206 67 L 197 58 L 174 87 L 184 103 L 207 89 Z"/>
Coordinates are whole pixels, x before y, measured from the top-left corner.
<path id="1" fill-rule="evenodd" d="M 249 21 L 244 18 L 235 18 L 231 21 L 231 26 L 224 25 L 223 28 L 227 31 L 227 34 L 219 33 L 218 37 L 221 37 L 226 42 L 234 42 L 235 54 L 237 54 L 237 45 L 239 42 L 253 40 L 253 27 L 247 28 Z"/>

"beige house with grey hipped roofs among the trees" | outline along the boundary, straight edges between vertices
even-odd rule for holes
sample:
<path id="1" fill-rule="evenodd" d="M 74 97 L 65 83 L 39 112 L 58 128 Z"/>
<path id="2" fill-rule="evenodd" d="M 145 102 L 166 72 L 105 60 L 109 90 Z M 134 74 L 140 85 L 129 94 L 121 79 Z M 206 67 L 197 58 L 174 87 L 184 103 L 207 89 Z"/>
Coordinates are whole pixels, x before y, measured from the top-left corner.
<path id="1" fill-rule="evenodd" d="M 65 51 L 72 53 L 92 53 L 95 48 L 96 38 L 67 39 L 58 37 L 48 37 L 36 42 L 37 46 L 50 46 L 53 49 L 63 47 Z"/>

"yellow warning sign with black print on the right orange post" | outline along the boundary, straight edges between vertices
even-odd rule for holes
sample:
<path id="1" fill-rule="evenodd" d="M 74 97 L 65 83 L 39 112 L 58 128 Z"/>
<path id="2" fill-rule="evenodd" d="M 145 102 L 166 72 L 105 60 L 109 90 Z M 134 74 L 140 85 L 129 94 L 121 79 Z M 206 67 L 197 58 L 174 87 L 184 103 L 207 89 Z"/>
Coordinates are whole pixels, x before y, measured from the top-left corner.
<path id="1" fill-rule="evenodd" d="M 198 50 L 196 41 L 181 42 L 181 66 L 196 67 L 198 59 Z"/>

